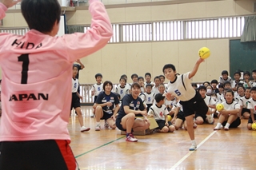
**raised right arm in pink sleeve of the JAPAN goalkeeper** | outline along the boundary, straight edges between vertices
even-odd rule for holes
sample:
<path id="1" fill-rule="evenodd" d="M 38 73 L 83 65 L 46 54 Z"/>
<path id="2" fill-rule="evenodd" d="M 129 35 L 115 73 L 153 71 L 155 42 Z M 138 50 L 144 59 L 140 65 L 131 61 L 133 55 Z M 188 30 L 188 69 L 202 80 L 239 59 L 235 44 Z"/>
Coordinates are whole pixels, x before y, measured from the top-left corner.
<path id="1" fill-rule="evenodd" d="M 92 16 L 90 30 L 86 34 L 75 33 L 62 36 L 70 55 L 70 61 L 86 57 L 102 49 L 110 41 L 113 31 L 105 6 L 99 0 L 90 0 L 89 11 Z"/>

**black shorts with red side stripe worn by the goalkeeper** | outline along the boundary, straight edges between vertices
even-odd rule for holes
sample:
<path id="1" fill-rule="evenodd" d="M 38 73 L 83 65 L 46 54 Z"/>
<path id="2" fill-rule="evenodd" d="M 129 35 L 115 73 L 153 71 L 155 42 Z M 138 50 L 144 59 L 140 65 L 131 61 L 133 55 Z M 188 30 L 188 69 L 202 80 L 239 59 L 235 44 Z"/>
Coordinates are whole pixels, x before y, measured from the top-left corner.
<path id="1" fill-rule="evenodd" d="M 1 170 L 75 170 L 70 140 L 0 142 Z"/>

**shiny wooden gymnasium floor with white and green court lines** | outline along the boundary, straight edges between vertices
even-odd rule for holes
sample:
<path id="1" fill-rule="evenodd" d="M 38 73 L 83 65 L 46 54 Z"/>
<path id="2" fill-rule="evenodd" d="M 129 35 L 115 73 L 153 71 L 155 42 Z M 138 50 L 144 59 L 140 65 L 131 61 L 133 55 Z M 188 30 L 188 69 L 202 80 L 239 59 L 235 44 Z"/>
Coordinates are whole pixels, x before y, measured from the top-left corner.
<path id="1" fill-rule="evenodd" d="M 198 125 L 195 129 L 198 149 L 190 152 L 190 139 L 183 129 L 136 136 L 138 142 L 131 143 L 125 141 L 118 129 L 95 131 L 91 112 L 90 106 L 82 106 L 85 125 L 91 128 L 89 132 L 79 131 L 74 115 L 68 126 L 70 146 L 81 170 L 256 169 L 256 131 L 247 130 L 247 120 L 229 131 L 214 131 L 214 125 Z M 215 119 L 215 125 L 216 122 Z"/>

